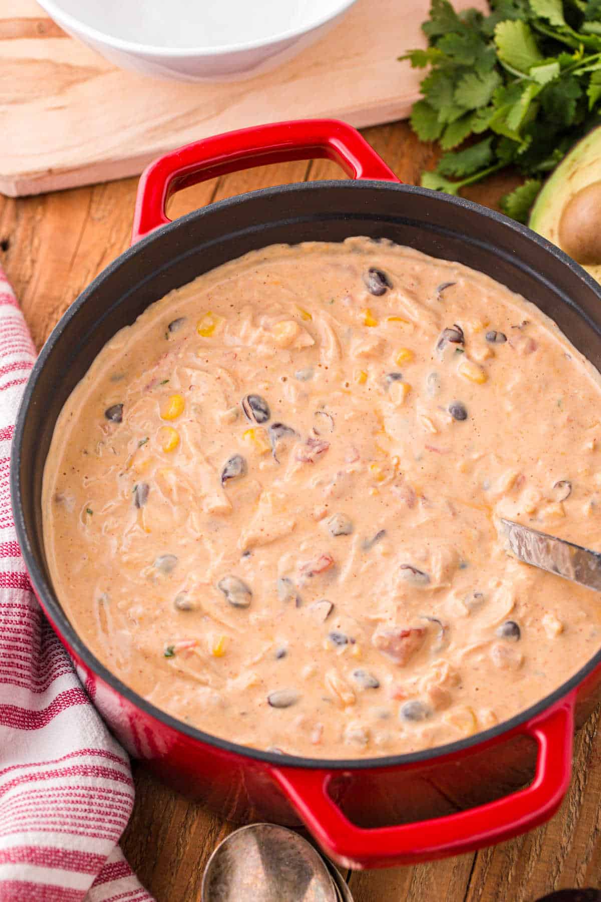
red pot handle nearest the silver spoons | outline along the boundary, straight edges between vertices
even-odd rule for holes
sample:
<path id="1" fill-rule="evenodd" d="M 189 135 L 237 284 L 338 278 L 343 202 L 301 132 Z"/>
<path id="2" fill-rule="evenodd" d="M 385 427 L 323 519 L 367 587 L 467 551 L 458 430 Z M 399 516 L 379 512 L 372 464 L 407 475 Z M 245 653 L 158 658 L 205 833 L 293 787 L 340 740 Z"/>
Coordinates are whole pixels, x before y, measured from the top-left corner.
<path id="1" fill-rule="evenodd" d="M 525 833 L 554 815 L 569 787 L 575 692 L 520 727 L 538 743 L 533 783 L 468 811 L 429 821 L 365 829 L 328 793 L 344 771 L 273 768 L 272 776 L 323 850 L 347 868 L 378 868 L 460 855 Z M 491 741 L 504 740 L 506 735 Z"/>

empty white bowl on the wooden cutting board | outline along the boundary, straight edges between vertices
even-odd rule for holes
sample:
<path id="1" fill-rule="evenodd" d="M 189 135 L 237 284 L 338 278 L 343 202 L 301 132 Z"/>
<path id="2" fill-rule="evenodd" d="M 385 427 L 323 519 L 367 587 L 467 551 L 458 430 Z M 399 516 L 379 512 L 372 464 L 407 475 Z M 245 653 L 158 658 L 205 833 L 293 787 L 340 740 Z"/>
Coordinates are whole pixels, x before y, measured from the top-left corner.
<path id="1" fill-rule="evenodd" d="M 123 69 L 216 81 L 272 69 L 356 0 L 39 0 L 55 22 Z"/>

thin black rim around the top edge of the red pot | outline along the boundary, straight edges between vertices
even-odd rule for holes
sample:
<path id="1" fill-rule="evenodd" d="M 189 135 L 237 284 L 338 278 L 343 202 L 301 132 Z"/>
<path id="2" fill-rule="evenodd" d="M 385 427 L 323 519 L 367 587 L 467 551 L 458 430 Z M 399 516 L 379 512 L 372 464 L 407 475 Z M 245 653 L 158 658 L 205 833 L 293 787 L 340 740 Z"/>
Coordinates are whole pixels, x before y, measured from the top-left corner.
<path id="1" fill-rule="evenodd" d="M 279 185 L 275 188 L 265 188 L 249 191 L 241 195 L 236 195 L 233 198 L 225 198 L 224 200 L 216 201 L 212 204 L 207 205 L 206 207 L 202 207 L 201 209 L 187 213 L 185 216 L 179 216 L 178 219 L 174 220 L 173 222 L 170 222 L 164 226 L 159 226 L 157 229 L 141 238 L 141 240 L 136 244 L 132 244 L 131 247 L 129 247 L 118 257 L 116 257 L 113 262 L 109 263 L 109 265 L 96 276 L 96 279 L 94 279 L 94 281 L 90 282 L 87 288 L 83 290 L 77 297 L 77 299 L 73 301 L 73 303 L 68 307 L 63 316 L 59 319 L 59 322 L 56 324 L 56 326 L 52 329 L 50 336 L 42 347 L 41 352 L 32 368 L 32 373 L 25 386 L 25 390 L 23 391 L 23 398 L 21 400 L 14 429 L 10 466 L 10 492 L 17 539 L 22 549 L 25 566 L 31 578 L 35 594 L 39 599 L 41 599 L 44 612 L 50 620 L 50 623 L 54 630 L 59 634 L 59 637 L 62 637 L 62 639 L 67 642 L 69 648 L 73 649 L 76 655 L 82 659 L 84 664 L 89 667 L 90 670 L 92 670 L 96 674 L 96 676 L 99 676 L 108 686 L 110 686 L 116 693 L 118 693 L 118 695 L 122 695 L 123 698 L 125 698 L 128 702 L 135 705 L 137 708 L 140 708 L 144 713 L 150 715 L 150 717 L 154 718 L 160 723 L 163 723 L 165 726 L 168 726 L 176 732 L 183 733 L 190 739 L 196 740 L 205 745 L 214 746 L 214 748 L 219 750 L 236 754 L 244 759 L 254 759 L 257 761 L 262 761 L 275 767 L 320 769 L 332 771 L 366 770 L 378 768 L 390 769 L 402 768 L 406 765 L 423 763 L 426 761 L 434 761 L 436 759 L 445 759 L 451 756 L 455 756 L 458 753 L 466 752 L 477 746 L 487 745 L 490 741 L 495 740 L 497 737 L 503 734 L 517 732 L 524 723 L 532 721 L 533 718 L 541 715 L 547 709 L 551 708 L 554 704 L 559 703 L 562 698 L 564 698 L 566 695 L 569 695 L 569 693 L 573 689 L 575 689 L 580 683 L 582 683 L 583 680 L 590 673 L 592 673 L 593 670 L 596 669 L 596 667 L 599 667 L 601 665 L 601 649 L 599 649 L 599 651 L 596 652 L 596 655 L 594 655 L 592 658 L 589 658 L 587 663 L 583 667 L 580 667 L 578 669 L 577 673 L 575 673 L 573 676 L 570 676 L 569 679 L 562 683 L 557 689 L 554 689 L 553 692 L 551 692 L 549 695 L 545 695 L 540 701 L 526 708 L 524 711 L 514 714 L 514 716 L 509 720 L 506 720 L 502 723 L 497 723 L 494 727 L 490 727 L 489 729 L 482 732 L 477 732 L 473 736 L 469 736 L 459 741 L 450 742 L 442 746 L 436 746 L 433 749 L 424 749 L 403 755 L 386 755 L 378 758 L 368 759 L 303 758 L 298 755 L 288 755 L 276 752 L 262 751 L 259 749 L 250 748 L 249 746 L 239 745 L 236 742 L 225 740 L 219 736 L 214 736 L 210 733 L 198 730 L 196 729 L 196 727 L 190 726 L 189 724 L 184 723 L 183 721 L 180 721 L 170 714 L 157 708 L 155 705 L 150 704 L 150 702 L 147 702 L 141 695 L 138 695 L 136 692 L 126 686 L 118 676 L 115 676 L 110 670 L 105 667 L 104 664 L 102 664 L 96 658 L 96 656 L 90 651 L 90 649 L 87 648 L 87 645 L 79 638 L 77 632 L 68 621 L 67 615 L 60 607 L 59 602 L 57 601 L 53 589 L 50 585 L 50 581 L 47 581 L 45 579 L 44 575 L 41 573 L 40 568 L 35 563 L 27 534 L 27 528 L 25 525 L 23 504 L 21 502 L 21 478 L 19 465 L 22 453 L 23 429 L 25 419 L 27 417 L 27 410 L 29 408 L 30 401 L 32 400 L 32 394 L 35 389 L 36 383 L 38 382 L 41 371 L 43 370 L 44 364 L 48 356 L 50 355 L 50 352 L 54 349 L 55 345 L 59 343 L 62 333 L 70 319 L 76 316 L 79 308 L 81 308 L 84 304 L 87 303 L 90 298 L 94 296 L 95 290 L 98 285 L 100 285 L 102 281 L 105 280 L 105 278 L 107 278 L 112 272 L 114 272 L 119 266 L 121 266 L 123 262 L 129 260 L 133 256 L 136 256 L 138 253 L 141 253 L 155 242 L 159 242 L 162 236 L 168 234 L 169 231 L 173 231 L 178 228 L 185 228 L 187 223 L 198 218 L 210 215 L 211 212 L 217 207 L 230 207 L 232 208 L 232 210 L 235 210 L 235 207 L 244 203 L 249 198 L 256 198 L 257 196 L 261 195 L 266 198 L 270 198 L 280 193 L 296 193 L 302 191 L 308 192 L 310 194 L 312 190 L 316 189 L 327 188 L 333 190 L 348 190 L 349 187 L 349 181 L 344 179 L 323 179 L 313 182 L 294 182 L 288 185 Z M 544 251 L 550 253 L 552 257 L 555 257 L 555 259 L 561 265 L 567 266 L 575 275 L 578 276 L 580 280 L 586 282 L 589 289 L 595 291 L 596 295 L 599 298 L 599 302 L 601 303 L 601 286 L 590 275 L 588 275 L 588 273 L 581 266 L 579 266 L 577 262 L 574 262 L 568 256 L 568 254 L 561 251 L 560 248 L 555 244 L 551 244 L 551 242 L 547 241 L 546 238 L 543 238 L 542 235 L 538 235 L 537 233 L 533 232 L 532 229 L 528 228 L 527 226 L 522 226 L 520 223 L 515 222 L 508 216 L 497 213 L 496 210 L 492 210 L 489 207 L 483 207 L 482 205 L 476 204 L 465 198 L 453 197 L 448 194 L 442 194 L 441 192 L 432 191 L 430 189 L 419 188 L 414 185 L 405 185 L 402 182 L 387 182 L 377 179 L 360 179 L 351 182 L 351 187 L 353 190 L 378 189 L 398 191 L 401 193 L 407 192 L 430 199 L 433 196 L 436 196 L 436 198 L 438 198 L 438 200 L 442 204 L 449 205 L 450 214 L 452 207 L 459 206 L 471 211 L 477 216 L 482 216 L 485 219 L 498 224 L 499 226 L 505 226 L 513 229 L 523 238 L 526 238 L 533 244 L 538 244 Z M 153 273 L 152 277 L 155 275 L 156 273 Z"/>

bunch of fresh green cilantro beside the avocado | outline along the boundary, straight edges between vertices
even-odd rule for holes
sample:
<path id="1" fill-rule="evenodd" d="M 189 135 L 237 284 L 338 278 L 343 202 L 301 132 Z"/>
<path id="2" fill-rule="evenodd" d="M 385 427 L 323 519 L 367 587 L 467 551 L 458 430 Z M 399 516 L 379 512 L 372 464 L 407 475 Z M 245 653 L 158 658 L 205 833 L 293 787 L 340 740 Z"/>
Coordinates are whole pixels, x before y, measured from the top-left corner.
<path id="1" fill-rule="evenodd" d="M 514 165 L 528 179 L 501 205 L 525 222 L 544 175 L 601 123 L 601 0 L 490 0 L 490 11 L 432 0 L 428 49 L 399 59 L 430 67 L 411 125 L 446 151 L 423 186 L 458 194 Z"/>

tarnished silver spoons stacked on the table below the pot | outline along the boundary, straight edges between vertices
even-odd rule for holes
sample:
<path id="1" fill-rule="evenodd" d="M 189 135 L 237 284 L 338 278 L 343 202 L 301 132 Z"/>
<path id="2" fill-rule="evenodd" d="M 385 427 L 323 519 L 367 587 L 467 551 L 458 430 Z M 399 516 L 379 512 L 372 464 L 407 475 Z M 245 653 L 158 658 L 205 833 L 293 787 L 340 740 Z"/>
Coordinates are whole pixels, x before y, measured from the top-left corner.
<path id="1" fill-rule="evenodd" d="M 293 830 L 249 824 L 230 833 L 209 859 L 202 902 L 352 902 L 323 858 Z"/>

